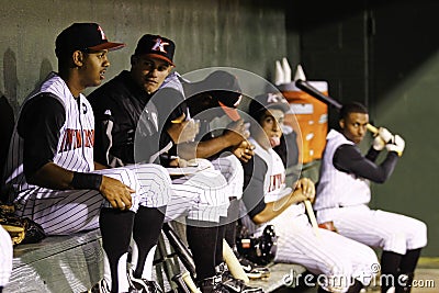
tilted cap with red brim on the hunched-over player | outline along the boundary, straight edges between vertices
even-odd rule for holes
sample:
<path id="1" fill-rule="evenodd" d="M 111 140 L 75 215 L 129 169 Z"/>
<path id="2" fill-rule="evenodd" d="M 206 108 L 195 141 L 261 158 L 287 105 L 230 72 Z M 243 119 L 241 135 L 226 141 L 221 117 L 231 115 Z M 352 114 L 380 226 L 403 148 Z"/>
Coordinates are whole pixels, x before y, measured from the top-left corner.
<path id="1" fill-rule="evenodd" d="M 241 101 L 238 79 L 230 72 L 216 70 L 198 82 L 199 91 L 207 91 L 233 121 L 240 120 L 236 108 Z"/>

